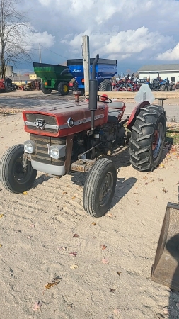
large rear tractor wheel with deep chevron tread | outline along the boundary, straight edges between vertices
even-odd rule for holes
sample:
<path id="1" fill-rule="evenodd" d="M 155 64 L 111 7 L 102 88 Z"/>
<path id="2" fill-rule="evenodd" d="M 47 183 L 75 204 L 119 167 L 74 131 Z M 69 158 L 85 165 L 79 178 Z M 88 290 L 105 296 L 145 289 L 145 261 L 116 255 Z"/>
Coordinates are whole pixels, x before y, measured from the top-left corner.
<path id="1" fill-rule="evenodd" d="M 139 171 L 158 166 L 166 136 L 166 112 L 161 106 L 141 108 L 129 140 L 130 162 Z"/>

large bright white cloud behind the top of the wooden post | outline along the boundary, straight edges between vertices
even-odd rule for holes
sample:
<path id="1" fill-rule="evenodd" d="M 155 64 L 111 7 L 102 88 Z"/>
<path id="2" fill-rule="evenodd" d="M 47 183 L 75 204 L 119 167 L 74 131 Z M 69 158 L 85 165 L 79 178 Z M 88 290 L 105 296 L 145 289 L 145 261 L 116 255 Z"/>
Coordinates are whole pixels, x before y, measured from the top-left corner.
<path id="1" fill-rule="evenodd" d="M 126 59 L 134 54 L 146 52 L 146 50 L 149 50 L 147 55 L 150 57 L 154 55 L 158 46 L 165 45 L 166 42 L 172 40 L 172 38 L 165 37 L 159 32 L 149 32 L 149 29 L 144 26 L 137 30 L 121 31 L 115 35 L 113 35 L 114 33 L 103 33 L 103 39 L 101 39 L 100 33 L 93 33 L 89 29 L 85 33 L 90 36 L 93 54 L 99 52 L 100 55 L 104 55 L 105 53 L 106 57 L 115 59 L 119 57 L 120 59 Z M 83 33 L 80 33 L 69 42 L 72 49 L 81 52 L 82 36 Z"/>

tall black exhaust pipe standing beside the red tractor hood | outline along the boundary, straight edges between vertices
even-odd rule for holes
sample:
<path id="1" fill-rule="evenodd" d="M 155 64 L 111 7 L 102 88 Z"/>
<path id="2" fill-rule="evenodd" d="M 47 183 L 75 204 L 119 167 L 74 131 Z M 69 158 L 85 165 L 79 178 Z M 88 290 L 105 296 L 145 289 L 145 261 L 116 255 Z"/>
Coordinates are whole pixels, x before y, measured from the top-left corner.
<path id="1" fill-rule="evenodd" d="M 91 110 L 91 134 L 95 129 L 95 111 L 97 110 L 97 94 L 98 94 L 98 80 L 95 77 L 96 64 L 99 60 L 99 55 L 93 61 L 91 80 L 89 81 L 89 110 Z"/>

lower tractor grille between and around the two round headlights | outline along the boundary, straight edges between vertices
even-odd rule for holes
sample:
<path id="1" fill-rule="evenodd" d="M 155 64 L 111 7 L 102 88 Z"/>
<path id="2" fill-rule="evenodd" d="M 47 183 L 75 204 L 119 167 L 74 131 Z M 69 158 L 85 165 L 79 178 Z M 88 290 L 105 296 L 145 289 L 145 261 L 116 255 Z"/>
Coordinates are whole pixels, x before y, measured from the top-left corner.
<path id="1" fill-rule="evenodd" d="M 30 140 L 35 142 L 35 154 L 32 154 L 32 159 L 36 162 L 44 163 L 44 164 L 51 164 L 62 166 L 64 165 L 65 158 L 62 157 L 60 159 L 54 159 L 48 155 L 48 147 L 58 144 L 58 145 L 65 145 L 66 139 L 64 138 L 52 138 L 49 136 L 42 136 L 36 134 L 30 134 Z"/>

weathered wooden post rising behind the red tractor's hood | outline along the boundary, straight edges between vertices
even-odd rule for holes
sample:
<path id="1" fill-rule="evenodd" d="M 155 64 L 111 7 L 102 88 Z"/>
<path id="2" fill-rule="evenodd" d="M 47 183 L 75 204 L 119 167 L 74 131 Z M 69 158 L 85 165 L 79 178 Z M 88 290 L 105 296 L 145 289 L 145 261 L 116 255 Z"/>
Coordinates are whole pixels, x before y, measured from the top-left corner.
<path id="1" fill-rule="evenodd" d="M 83 35 L 83 69 L 84 69 L 84 88 L 85 95 L 89 93 L 90 79 L 90 52 L 89 52 L 89 37 Z"/>

